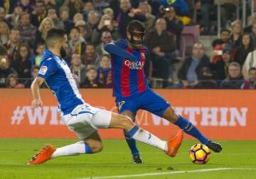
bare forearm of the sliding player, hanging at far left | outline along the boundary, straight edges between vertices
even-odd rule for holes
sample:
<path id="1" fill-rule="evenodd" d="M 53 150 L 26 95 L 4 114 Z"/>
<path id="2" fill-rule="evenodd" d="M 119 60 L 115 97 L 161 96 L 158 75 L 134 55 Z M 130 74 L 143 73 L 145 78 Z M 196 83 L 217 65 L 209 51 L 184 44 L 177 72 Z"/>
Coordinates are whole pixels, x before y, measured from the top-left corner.
<path id="1" fill-rule="evenodd" d="M 45 81 L 45 79 L 41 77 L 36 77 L 36 79 L 34 79 L 33 83 L 31 84 L 31 91 L 33 96 L 32 108 L 38 108 L 43 105 L 43 102 L 41 101 L 41 97 L 40 97 L 40 91 L 39 91 L 39 88 L 43 83 L 43 81 Z"/>

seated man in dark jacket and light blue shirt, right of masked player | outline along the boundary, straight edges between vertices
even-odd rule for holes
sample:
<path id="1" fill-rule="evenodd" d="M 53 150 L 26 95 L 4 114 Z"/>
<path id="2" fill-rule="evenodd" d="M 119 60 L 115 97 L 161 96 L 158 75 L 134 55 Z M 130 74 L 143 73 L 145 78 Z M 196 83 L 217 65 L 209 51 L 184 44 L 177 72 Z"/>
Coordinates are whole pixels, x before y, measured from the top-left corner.
<path id="1" fill-rule="evenodd" d="M 193 88 L 201 80 L 200 71 L 210 66 L 210 59 L 206 56 L 203 44 L 196 42 L 193 45 L 192 57 L 185 59 L 178 71 L 181 83 L 174 84 L 173 88 Z"/>

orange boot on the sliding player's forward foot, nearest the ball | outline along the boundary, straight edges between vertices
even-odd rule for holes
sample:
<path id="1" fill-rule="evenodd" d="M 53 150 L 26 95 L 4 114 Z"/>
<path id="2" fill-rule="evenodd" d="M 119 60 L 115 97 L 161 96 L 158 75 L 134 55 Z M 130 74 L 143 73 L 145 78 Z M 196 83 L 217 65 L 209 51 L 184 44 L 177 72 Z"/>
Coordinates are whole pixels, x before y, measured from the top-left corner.
<path id="1" fill-rule="evenodd" d="M 167 151 L 166 154 L 174 157 L 176 156 L 178 152 L 178 148 L 181 146 L 183 139 L 183 131 L 181 129 L 178 130 L 178 133 L 176 134 L 176 137 L 169 139 L 167 142 Z"/>

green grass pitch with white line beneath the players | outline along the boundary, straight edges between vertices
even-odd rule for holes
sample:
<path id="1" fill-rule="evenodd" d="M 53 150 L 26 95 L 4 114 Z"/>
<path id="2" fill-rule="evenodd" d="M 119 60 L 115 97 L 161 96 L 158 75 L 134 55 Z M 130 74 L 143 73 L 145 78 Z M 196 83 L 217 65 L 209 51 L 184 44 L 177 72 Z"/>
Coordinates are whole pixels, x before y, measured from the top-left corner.
<path id="1" fill-rule="evenodd" d="M 188 150 L 197 141 L 185 140 L 175 158 L 151 146 L 138 144 L 144 164 L 132 163 L 124 140 L 103 140 L 99 154 L 55 158 L 40 166 L 27 166 L 44 144 L 55 147 L 73 139 L 0 139 L 0 178 L 250 178 L 256 179 L 256 141 L 220 141 L 223 151 L 212 152 L 206 165 L 191 163 Z M 144 175 L 140 175 L 144 174 Z M 122 175 L 122 176 L 117 176 Z"/>

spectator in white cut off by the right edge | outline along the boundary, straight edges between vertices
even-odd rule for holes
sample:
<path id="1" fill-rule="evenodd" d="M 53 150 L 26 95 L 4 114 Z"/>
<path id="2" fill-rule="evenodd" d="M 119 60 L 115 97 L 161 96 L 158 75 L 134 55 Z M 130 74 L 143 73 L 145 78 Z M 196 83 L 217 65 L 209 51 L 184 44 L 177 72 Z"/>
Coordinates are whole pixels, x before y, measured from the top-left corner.
<path id="1" fill-rule="evenodd" d="M 256 48 L 247 55 L 245 63 L 243 64 L 242 75 L 245 79 L 249 79 L 249 69 L 252 67 L 256 67 Z"/>

